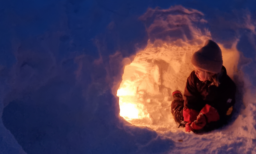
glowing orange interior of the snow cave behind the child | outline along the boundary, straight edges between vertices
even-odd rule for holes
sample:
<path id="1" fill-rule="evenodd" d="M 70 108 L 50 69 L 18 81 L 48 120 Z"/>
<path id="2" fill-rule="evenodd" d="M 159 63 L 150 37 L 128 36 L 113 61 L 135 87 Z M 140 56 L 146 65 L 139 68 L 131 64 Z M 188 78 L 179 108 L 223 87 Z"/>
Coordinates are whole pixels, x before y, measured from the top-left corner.
<path id="1" fill-rule="evenodd" d="M 192 54 L 202 47 L 186 44 L 163 44 L 147 48 L 125 66 L 123 80 L 117 91 L 120 116 L 136 126 L 150 127 L 156 131 L 176 130 L 178 124 L 171 114 L 172 92 L 184 92 L 186 80 L 192 72 Z M 221 44 L 223 65 L 233 78 L 239 54 L 234 48 Z"/>

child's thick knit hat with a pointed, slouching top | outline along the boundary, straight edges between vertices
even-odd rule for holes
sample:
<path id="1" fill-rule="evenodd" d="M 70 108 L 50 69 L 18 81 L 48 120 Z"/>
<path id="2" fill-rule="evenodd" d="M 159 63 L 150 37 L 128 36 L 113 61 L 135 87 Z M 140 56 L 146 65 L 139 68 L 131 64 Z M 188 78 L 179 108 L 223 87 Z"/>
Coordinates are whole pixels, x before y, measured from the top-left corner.
<path id="1" fill-rule="evenodd" d="M 221 49 L 214 41 L 208 40 L 204 47 L 193 54 L 191 62 L 207 72 L 219 73 L 223 64 Z"/>

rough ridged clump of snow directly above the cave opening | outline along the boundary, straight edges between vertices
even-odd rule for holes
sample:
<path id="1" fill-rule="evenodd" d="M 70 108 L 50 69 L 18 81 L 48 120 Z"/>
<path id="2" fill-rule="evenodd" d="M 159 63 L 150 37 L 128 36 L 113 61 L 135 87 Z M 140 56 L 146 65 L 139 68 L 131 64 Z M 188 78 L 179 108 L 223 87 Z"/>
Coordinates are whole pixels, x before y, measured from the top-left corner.
<path id="1" fill-rule="evenodd" d="M 151 44 L 162 40 L 168 44 L 183 46 L 183 41 L 191 45 L 204 42 L 197 38 L 197 35 L 208 35 L 208 31 L 204 28 L 207 21 L 203 16 L 204 14 L 198 10 L 174 6 L 165 10 L 159 7 L 149 8 L 139 19 L 147 27 Z"/>

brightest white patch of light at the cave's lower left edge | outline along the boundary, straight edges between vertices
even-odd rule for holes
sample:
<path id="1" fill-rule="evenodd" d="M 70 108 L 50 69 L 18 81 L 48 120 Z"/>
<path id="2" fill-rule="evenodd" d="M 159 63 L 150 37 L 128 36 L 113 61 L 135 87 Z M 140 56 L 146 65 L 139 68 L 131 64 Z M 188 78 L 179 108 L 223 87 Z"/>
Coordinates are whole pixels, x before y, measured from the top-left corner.
<path id="1" fill-rule="evenodd" d="M 135 104 L 123 103 L 120 105 L 120 116 L 125 119 L 138 119 L 139 110 L 136 108 Z"/>

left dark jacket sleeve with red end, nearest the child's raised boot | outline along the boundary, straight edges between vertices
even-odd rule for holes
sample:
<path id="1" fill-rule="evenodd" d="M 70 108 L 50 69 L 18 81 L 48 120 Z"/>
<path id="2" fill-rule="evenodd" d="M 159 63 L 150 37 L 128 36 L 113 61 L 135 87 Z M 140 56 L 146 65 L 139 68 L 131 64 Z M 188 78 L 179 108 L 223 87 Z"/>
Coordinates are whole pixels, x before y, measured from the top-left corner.
<path id="1" fill-rule="evenodd" d="M 184 91 L 184 121 L 193 122 L 197 119 L 200 109 L 200 94 L 196 87 L 195 72 L 193 71 L 187 79 Z M 199 106 L 198 106 L 199 105 Z"/>

